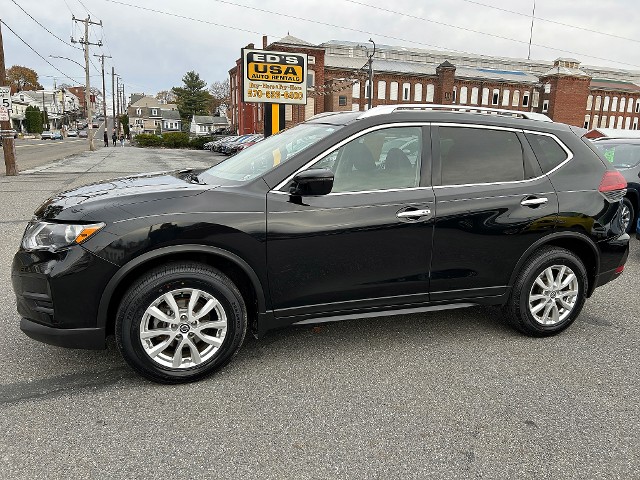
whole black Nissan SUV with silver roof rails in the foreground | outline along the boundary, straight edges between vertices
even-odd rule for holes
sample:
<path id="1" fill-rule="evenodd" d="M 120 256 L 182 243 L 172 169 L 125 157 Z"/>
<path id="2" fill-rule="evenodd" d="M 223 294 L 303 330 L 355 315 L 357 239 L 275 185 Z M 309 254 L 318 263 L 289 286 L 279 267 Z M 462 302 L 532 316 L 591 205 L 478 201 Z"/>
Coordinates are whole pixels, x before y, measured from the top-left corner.
<path id="1" fill-rule="evenodd" d="M 568 327 L 624 269 L 624 178 L 576 128 L 525 112 L 330 113 L 204 171 L 40 206 L 13 262 L 22 330 L 116 342 L 154 381 L 227 363 L 246 331 L 501 305 Z"/>

